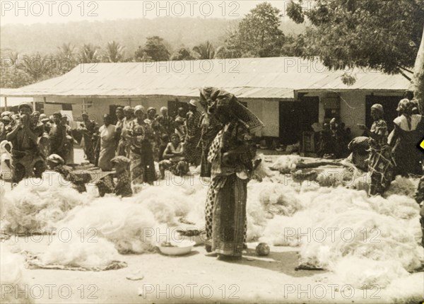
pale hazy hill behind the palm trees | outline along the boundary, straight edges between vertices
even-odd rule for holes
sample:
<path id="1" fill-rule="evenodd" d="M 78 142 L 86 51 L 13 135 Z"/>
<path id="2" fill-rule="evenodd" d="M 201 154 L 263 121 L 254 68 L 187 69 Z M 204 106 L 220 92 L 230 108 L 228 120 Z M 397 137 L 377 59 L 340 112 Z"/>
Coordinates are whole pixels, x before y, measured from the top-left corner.
<path id="1" fill-rule="evenodd" d="M 104 47 L 116 40 L 126 47 L 126 54 L 134 54 L 146 37 L 163 37 L 171 49 L 181 45 L 192 48 L 209 40 L 215 47 L 223 45 L 226 30 L 235 28 L 239 20 L 223 18 L 121 19 L 116 21 L 81 21 L 71 23 L 37 23 L 34 25 L 4 25 L 0 28 L 1 49 L 11 49 L 20 54 L 56 52 L 57 47 L 71 43 L 79 47 L 91 43 Z M 282 21 L 285 34 L 299 34 L 305 25 Z"/>

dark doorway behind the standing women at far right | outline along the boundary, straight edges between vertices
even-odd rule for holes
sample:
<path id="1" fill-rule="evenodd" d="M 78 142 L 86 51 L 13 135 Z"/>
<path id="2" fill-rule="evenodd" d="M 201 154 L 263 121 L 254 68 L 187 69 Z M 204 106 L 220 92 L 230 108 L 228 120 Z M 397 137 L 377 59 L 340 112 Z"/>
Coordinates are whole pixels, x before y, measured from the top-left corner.
<path id="1" fill-rule="evenodd" d="M 387 128 L 389 131 L 393 130 L 393 119 L 395 119 L 398 115 L 396 112 L 397 105 L 399 101 L 402 99 L 401 95 L 398 96 L 375 96 L 375 95 L 367 95 L 365 96 L 365 124 L 368 128 L 372 125 L 372 117 L 371 117 L 371 106 L 375 103 L 379 103 L 384 107 L 384 117 L 383 119 L 387 122 Z"/>

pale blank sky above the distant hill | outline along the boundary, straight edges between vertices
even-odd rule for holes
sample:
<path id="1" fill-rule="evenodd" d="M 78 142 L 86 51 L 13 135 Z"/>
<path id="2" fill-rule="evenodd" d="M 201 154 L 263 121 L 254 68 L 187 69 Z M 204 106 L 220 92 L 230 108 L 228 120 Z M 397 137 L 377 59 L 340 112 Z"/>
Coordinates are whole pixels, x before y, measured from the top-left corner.
<path id="1" fill-rule="evenodd" d="M 242 18 L 263 1 L 0 1 L 0 25 L 165 16 Z M 290 0 L 269 1 L 284 11 Z M 307 8 L 312 1 L 304 1 Z"/>

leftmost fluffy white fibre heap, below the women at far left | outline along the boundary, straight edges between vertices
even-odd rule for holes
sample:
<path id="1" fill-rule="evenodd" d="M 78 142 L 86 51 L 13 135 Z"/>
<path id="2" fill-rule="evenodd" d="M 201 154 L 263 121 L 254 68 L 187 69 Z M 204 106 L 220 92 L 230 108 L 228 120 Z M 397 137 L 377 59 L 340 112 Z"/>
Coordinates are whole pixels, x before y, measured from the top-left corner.
<path id="1" fill-rule="evenodd" d="M 8 228 L 16 233 L 53 227 L 75 206 L 87 204 L 88 196 L 78 193 L 58 173 L 42 179 L 26 179 L 4 195 Z"/>

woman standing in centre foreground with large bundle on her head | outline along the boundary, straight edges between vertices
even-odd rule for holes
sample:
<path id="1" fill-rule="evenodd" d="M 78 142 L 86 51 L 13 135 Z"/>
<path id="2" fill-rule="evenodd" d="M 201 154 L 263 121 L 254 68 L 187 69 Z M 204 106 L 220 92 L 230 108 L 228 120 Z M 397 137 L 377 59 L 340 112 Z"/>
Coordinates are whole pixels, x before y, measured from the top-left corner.
<path id="1" fill-rule="evenodd" d="M 208 152 L 212 179 L 206 201 L 206 233 L 212 238 L 214 254 L 221 259 L 239 259 L 246 242 L 247 182 L 256 154 L 250 132 L 262 123 L 230 93 L 220 90 L 211 101 L 209 112 L 223 128 Z"/>

